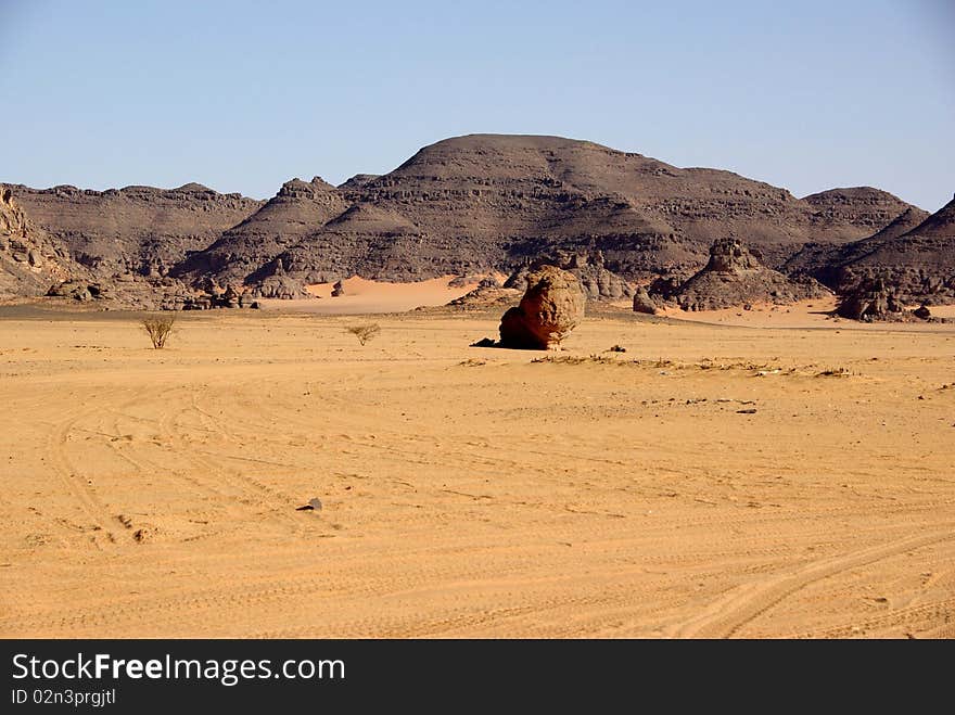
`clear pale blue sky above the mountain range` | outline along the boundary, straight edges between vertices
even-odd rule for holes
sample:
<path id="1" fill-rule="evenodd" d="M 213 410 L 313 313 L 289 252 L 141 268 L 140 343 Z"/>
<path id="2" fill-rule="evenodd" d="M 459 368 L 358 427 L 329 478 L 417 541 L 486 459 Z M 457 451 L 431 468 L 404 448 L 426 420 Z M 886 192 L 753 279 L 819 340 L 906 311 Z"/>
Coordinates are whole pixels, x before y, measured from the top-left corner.
<path id="1" fill-rule="evenodd" d="M 471 132 L 955 191 L 955 2 L 0 0 L 0 181 L 272 195 Z"/>

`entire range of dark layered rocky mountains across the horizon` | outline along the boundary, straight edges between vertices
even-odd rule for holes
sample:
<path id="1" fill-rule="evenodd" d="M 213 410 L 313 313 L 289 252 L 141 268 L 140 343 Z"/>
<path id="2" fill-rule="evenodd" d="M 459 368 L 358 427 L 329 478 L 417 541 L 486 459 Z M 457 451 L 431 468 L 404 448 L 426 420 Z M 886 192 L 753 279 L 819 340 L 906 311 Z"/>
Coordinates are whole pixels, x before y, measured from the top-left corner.
<path id="1" fill-rule="evenodd" d="M 228 286 L 296 297 L 309 283 L 352 274 L 512 274 L 555 257 L 590 297 L 627 297 L 633 283 L 654 279 L 675 290 L 727 237 L 740 237 L 767 268 L 837 288 L 895 266 L 890 279 L 913 295 L 943 298 L 948 290 L 945 269 L 930 265 L 951 265 L 939 233 L 947 229 L 914 231 L 927 215 L 887 192 L 797 199 L 730 171 L 559 137 L 447 139 L 383 176 L 340 187 L 294 179 L 268 202 L 195 183 L 11 191 L 54 253 L 122 291 L 132 294 L 124 286 L 135 284 L 136 301 L 150 285 L 162 289 L 163 305 L 182 303 L 183 291 Z M 929 254 L 935 258 L 919 257 Z"/>

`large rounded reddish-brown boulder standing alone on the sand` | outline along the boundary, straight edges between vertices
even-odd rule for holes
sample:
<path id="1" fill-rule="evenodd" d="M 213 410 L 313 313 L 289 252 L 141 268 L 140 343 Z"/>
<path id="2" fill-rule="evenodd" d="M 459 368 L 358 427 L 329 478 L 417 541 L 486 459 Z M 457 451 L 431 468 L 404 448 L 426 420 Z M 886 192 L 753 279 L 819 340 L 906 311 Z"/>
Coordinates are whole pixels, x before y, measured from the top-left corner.
<path id="1" fill-rule="evenodd" d="M 559 346 L 584 317 L 586 296 L 576 277 L 555 266 L 527 276 L 521 303 L 500 320 L 501 347 L 547 349 Z"/>

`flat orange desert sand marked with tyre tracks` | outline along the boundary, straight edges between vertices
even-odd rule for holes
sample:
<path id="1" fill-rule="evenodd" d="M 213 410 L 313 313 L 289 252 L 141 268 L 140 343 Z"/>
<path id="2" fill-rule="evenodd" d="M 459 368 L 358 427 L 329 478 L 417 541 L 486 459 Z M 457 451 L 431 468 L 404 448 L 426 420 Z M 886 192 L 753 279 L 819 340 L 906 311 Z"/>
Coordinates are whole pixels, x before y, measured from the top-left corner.
<path id="1" fill-rule="evenodd" d="M 0 636 L 955 636 L 955 325 L 598 311 L 500 350 L 501 310 L 320 315 L 425 290 L 352 283 L 164 350 L 0 311 Z"/>

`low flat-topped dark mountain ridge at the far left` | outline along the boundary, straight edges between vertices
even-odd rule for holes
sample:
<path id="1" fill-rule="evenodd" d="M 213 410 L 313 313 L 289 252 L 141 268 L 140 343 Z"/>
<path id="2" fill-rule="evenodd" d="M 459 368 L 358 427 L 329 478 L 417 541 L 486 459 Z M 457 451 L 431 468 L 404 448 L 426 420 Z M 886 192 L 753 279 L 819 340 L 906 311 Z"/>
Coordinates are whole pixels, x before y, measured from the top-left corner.
<path id="1" fill-rule="evenodd" d="M 100 277 L 163 276 L 188 252 L 207 247 L 263 203 L 199 183 L 168 190 L 10 189 L 38 228 Z"/>

